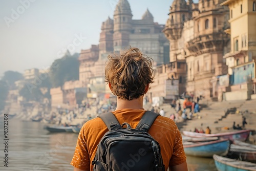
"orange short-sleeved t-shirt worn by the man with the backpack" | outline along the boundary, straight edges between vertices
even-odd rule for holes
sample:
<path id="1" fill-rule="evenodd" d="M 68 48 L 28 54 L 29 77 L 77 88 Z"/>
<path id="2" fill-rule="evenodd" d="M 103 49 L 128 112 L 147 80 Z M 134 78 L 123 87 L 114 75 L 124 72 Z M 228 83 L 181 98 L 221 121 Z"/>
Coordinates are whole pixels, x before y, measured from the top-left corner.
<path id="1" fill-rule="evenodd" d="M 122 109 L 113 112 L 119 123 L 127 122 L 132 128 L 138 125 L 144 113 L 144 110 L 135 109 Z M 92 161 L 97 151 L 97 145 L 108 131 L 100 118 L 94 118 L 84 123 L 78 135 L 76 149 L 70 164 L 81 170 L 93 170 Z M 173 120 L 158 116 L 148 133 L 160 144 L 166 171 L 168 166 L 186 161 L 182 137 Z"/>

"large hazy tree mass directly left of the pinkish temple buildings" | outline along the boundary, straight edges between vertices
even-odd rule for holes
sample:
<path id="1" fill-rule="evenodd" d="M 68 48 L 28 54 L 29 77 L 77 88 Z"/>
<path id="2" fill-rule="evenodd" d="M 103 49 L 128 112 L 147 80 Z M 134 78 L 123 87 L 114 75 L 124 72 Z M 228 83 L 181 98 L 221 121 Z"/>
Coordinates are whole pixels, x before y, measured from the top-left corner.
<path id="1" fill-rule="evenodd" d="M 52 63 L 50 80 L 53 88 L 63 86 L 65 81 L 78 79 L 79 61 L 76 56 L 64 56 L 61 59 L 56 59 Z"/>

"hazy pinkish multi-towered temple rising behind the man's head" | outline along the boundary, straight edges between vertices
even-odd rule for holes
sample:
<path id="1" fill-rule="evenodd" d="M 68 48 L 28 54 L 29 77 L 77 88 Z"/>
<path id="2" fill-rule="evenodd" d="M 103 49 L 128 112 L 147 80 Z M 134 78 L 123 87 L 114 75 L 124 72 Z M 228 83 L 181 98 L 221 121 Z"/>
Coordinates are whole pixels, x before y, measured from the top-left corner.
<path id="1" fill-rule="evenodd" d="M 113 19 L 108 17 L 101 25 L 99 45 L 81 51 L 79 80 L 83 87 L 88 88 L 88 97 L 108 92 L 104 82 L 104 68 L 109 54 L 119 54 L 131 46 L 153 58 L 155 67 L 169 62 L 169 41 L 162 33 L 164 25 L 155 23 L 148 9 L 141 19 L 132 17 L 129 2 L 119 0 Z"/>

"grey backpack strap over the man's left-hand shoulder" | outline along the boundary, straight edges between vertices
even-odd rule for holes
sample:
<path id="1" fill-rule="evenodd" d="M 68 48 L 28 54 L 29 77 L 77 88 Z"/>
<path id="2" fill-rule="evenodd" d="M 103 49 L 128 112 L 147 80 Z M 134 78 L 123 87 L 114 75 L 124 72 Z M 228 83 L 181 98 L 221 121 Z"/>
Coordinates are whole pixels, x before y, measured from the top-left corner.
<path id="1" fill-rule="evenodd" d="M 120 123 L 118 122 L 118 120 L 112 112 L 98 115 L 98 117 L 103 120 L 103 122 L 110 131 L 122 129 L 122 126 L 120 125 Z"/>

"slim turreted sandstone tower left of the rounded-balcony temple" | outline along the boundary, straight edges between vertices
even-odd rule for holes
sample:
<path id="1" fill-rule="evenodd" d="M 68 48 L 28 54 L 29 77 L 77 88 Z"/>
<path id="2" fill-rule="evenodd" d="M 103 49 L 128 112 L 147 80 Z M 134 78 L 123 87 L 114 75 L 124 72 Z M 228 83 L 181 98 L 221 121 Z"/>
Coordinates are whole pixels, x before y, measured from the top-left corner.
<path id="1" fill-rule="evenodd" d="M 191 4 L 192 1 L 185 2 L 185 0 L 174 0 L 169 9 L 169 18 L 167 19 L 163 32 L 165 37 L 170 42 L 170 53 L 168 79 L 178 80 L 179 94 L 186 90 L 186 60 L 185 47 L 182 37 L 184 23 L 191 18 Z"/>

